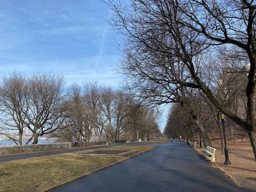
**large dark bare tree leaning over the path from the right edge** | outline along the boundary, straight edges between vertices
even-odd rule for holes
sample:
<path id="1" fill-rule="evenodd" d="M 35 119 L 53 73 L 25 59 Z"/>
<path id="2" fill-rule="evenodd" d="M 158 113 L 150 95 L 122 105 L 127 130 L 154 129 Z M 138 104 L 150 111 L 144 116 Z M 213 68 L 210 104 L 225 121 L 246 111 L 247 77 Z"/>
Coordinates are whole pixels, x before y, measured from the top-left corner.
<path id="1" fill-rule="evenodd" d="M 130 83 L 133 83 L 134 88 L 140 85 L 141 91 L 138 93 L 145 95 L 147 92 L 156 98 L 151 102 L 161 103 L 174 99 L 172 93 L 177 85 L 202 90 L 218 110 L 249 133 L 256 160 L 253 106 L 256 73 L 255 2 L 132 0 L 125 7 L 113 1 L 108 1 L 108 4 L 115 14 L 111 25 L 125 37 L 124 53 L 128 62 L 122 66 L 124 73 L 132 76 Z M 204 54 L 214 54 L 216 48 L 223 46 L 229 50 L 237 47 L 238 58 L 250 63 L 246 84 L 246 120 L 222 105 L 211 86 L 204 81 L 208 71 L 203 69 L 211 64 L 209 60 L 202 59 Z M 177 66 L 182 66 L 184 71 L 182 79 L 179 74 L 175 75 Z M 138 78 L 134 79 L 136 75 Z M 147 87 L 151 86 L 145 85 L 152 82 L 158 86 L 149 90 Z"/>

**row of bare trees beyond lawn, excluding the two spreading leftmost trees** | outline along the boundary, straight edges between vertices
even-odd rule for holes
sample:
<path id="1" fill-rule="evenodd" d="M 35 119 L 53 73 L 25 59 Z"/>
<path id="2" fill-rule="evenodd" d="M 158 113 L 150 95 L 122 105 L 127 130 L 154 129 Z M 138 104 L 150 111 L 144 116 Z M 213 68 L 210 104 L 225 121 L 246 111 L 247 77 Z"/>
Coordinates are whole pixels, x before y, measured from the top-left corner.
<path id="1" fill-rule="evenodd" d="M 71 85 L 67 102 L 69 127 L 54 133 L 62 140 L 132 140 L 153 138 L 160 133 L 156 111 L 136 103 L 123 91 L 114 91 L 97 82 Z"/>

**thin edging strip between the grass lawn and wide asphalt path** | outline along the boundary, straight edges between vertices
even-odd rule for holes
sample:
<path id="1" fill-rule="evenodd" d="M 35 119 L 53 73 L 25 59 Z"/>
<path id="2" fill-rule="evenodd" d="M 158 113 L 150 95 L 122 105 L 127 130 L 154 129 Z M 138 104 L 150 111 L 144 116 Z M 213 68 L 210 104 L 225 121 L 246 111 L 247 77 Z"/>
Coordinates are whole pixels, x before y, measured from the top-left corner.
<path id="1" fill-rule="evenodd" d="M 86 174 L 81 175 L 81 176 L 79 176 L 79 177 L 76 177 L 76 178 L 70 179 L 70 180 L 68 180 L 68 181 L 65 181 L 65 182 L 63 182 L 63 183 L 60 183 L 58 186 L 54 186 L 54 187 L 52 187 L 52 188 L 50 188 L 50 189 L 47 189 L 47 190 L 45 190 L 45 191 L 43 191 L 43 192 L 47 192 L 47 191 L 50 191 L 50 190 L 52 190 L 52 189 L 58 188 L 58 187 L 60 187 L 60 186 L 66 185 L 67 183 L 73 182 L 73 181 L 75 181 L 75 180 L 77 180 L 77 179 L 81 179 L 81 178 L 86 177 L 86 176 L 88 176 L 88 175 L 90 175 L 90 174 L 93 174 L 93 173 L 95 173 L 95 172 L 97 172 L 97 171 L 106 169 L 107 167 L 114 166 L 115 164 L 121 163 L 121 162 L 123 162 L 123 161 L 125 161 L 125 160 L 127 160 L 127 159 L 129 159 L 129 158 L 135 157 L 135 156 L 140 155 L 140 154 L 142 154 L 142 153 L 146 153 L 147 151 L 152 150 L 152 149 L 155 149 L 156 147 L 157 147 L 157 146 L 155 146 L 155 147 L 153 147 L 153 148 L 151 148 L 151 149 L 147 149 L 147 150 L 145 150 L 145 151 L 141 151 L 141 153 L 132 155 L 132 156 L 130 156 L 130 157 L 126 157 L 126 158 L 124 158 L 124 159 L 122 159 L 122 160 L 120 160 L 120 161 L 117 161 L 117 162 L 115 162 L 115 163 L 111 163 L 111 164 L 106 165 L 106 166 L 104 166 L 104 167 L 100 167 L 100 168 L 97 169 L 97 170 L 94 170 L 94 171 L 92 171 L 92 172 L 86 173 Z"/>

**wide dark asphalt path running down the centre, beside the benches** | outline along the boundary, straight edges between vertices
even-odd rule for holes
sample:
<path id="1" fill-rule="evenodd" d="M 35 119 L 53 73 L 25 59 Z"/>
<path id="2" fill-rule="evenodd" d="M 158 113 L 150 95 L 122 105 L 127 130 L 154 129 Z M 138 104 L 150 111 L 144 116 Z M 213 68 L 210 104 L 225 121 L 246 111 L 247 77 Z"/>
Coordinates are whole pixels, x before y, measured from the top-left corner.
<path id="1" fill-rule="evenodd" d="M 186 143 L 158 145 L 53 191 L 253 191 L 239 188 Z"/>

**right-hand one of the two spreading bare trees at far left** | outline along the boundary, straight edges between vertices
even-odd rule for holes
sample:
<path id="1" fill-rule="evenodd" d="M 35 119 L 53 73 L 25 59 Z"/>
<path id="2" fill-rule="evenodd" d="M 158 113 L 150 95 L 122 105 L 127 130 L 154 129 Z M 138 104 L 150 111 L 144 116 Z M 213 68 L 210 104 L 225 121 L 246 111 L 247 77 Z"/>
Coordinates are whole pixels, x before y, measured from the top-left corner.
<path id="1" fill-rule="evenodd" d="M 67 127 L 65 125 L 65 108 L 63 102 L 63 76 L 54 74 L 33 74 L 29 77 L 29 93 L 26 105 L 29 107 L 23 122 L 33 135 L 33 144 L 37 144 L 38 137 L 52 133 L 58 129 Z"/>

